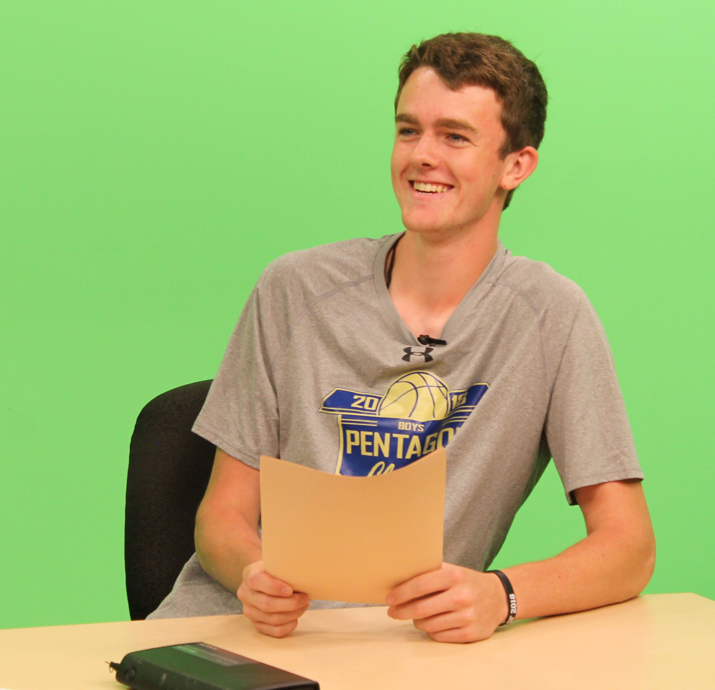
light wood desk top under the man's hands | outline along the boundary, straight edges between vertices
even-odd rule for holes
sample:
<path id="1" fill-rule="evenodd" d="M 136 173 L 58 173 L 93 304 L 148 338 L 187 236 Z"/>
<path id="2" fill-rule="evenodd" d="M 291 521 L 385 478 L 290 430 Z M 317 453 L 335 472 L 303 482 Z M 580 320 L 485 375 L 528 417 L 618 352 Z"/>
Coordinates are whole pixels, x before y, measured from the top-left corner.
<path id="1" fill-rule="evenodd" d="M 321 690 L 715 689 L 715 601 L 651 594 L 542 618 L 475 644 L 438 644 L 385 608 L 307 611 L 285 639 L 243 616 L 0 631 L 0 687 L 119 690 L 105 661 L 205 641 L 320 682 Z"/>

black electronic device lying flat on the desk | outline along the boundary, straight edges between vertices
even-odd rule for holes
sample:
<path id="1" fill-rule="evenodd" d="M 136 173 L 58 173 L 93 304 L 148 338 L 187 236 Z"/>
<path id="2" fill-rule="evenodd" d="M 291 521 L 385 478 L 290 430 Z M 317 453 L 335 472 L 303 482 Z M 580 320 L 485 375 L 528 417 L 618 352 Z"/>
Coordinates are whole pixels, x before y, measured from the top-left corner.
<path id="1" fill-rule="evenodd" d="M 135 690 L 320 690 L 315 681 L 205 642 L 132 651 L 109 666 Z"/>

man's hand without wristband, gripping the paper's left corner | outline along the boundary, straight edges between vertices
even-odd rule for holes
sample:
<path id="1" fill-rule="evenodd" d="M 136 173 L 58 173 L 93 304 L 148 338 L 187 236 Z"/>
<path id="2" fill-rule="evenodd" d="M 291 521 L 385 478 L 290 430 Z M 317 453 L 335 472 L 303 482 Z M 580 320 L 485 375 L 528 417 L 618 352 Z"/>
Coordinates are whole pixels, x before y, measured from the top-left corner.
<path id="1" fill-rule="evenodd" d="M 262 561 L 244 568 L 236 594 L 255 629 L 271 637 L 285 637 L 294 631 L 310 604 L 307 594 L 294 592 L 288 583 L 269 575 Z"/>

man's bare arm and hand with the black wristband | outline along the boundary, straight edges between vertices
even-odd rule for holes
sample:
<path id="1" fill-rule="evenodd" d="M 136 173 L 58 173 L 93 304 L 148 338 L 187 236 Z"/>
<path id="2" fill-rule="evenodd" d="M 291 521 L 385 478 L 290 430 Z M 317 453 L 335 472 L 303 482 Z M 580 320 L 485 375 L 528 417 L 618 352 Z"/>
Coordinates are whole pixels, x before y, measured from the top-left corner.
<path id="1" fill-rule="evenodd" d="M 576 491 L 587 536 L 546 561 L 507 568 L 518 618 L 583 611 L 640 593 L 653 573 L 655 538 L 641 483 L 606 482 Z M 445 563 L 393 589 L 393 618 L 412 618 L 435 640 L 488 638 L 504 621 L 506 596 L 492 573 Z"/>

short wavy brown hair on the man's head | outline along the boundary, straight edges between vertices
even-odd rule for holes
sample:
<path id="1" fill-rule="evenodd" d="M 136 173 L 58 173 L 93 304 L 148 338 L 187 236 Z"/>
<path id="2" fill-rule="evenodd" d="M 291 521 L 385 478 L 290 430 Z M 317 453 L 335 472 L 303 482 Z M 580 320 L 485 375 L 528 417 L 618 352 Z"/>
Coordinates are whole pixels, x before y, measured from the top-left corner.
<path id="1" fill-rule="evenodd" d="M 501 102 L 506 132 L 500 154 L 525 146 L 538 149 L 543 139 L 548 94 L 538 67 L 509 41 L 489 34 L 440 34 L 413 45 L 400 62 L 395 112 L 405 82 L 419 67 L 431 67 L 453 91 L 465 86 L 493 89 Z M 506 195 L 508 207 L 516 190 Z"/>

